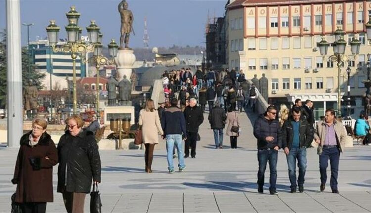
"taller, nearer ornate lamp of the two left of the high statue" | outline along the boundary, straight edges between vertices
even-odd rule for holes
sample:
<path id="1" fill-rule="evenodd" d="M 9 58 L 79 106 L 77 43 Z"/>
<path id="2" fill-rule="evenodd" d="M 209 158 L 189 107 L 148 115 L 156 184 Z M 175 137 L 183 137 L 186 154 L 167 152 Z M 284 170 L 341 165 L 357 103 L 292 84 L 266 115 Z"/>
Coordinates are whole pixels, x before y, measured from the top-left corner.
<path id="1" fill-rule="evenodd" d="M 98 41 L 99 27 L 95 21 L 91 21 L 91 25 L 87 27 L 88 37 L 90 42 L 80 40 L 82 28 L 77 23 L 80 17 L 74 6 L 66 13 L 69 24 L 65 27 L 67 31 L 68 42 L 61 47 L 57 47 L 58 34 L 60 27 L 55 24 L 54 20 L 50 21 L 50 25 L 46 27 L 49 45 L 53 48 L 54 52 L 71 53 L 72 67 L 73 67 L 73 113 L 77 113 L 77 94 L 76 94 L 76 58 L 80 56 L 81 61 L 85 60 L 85 55 L 88 52 L 94 51 L 94 46 Z"/>

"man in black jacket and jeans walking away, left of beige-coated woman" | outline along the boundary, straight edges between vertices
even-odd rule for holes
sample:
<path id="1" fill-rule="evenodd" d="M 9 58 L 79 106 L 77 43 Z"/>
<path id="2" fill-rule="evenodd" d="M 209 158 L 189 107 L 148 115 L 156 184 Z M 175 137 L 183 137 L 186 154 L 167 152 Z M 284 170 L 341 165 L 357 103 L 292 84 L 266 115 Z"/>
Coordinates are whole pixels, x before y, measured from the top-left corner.
<path id="1" fill-rule="evenodd" d="M 215 149 L 223 148 L 223 129 L 227 116 L 219 101 L 215 102 L 215 107 L 209 113 L 209 123 L 214 132 Z"/>

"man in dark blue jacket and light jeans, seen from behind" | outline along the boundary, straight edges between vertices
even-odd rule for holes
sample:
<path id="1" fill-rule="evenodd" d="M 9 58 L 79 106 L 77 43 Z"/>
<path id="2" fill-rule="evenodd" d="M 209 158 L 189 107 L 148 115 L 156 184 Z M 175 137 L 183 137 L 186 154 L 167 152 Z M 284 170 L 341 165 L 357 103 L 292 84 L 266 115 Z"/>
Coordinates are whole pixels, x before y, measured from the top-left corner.
<path id="1" fill-rule="evenodd" d="M 186 140 L 187 132 L 185 130 L 185 118 L 183 112 L 178 108 L 178 100 L 172 99 L 170 102 L 170 108 L 165 109 L 162 119 L 161 126 L 164 130 L 164 137 L 166 138 L 167 148 L 167 160 L 169 173 L 174 173 L 173 165 L 173 148 L 174 145 L 178 150 L 178 168 L 179 172 L 184 171 L 185 164 L 183 158 L 183 144 L 182 144 L 182 133 Z"/>

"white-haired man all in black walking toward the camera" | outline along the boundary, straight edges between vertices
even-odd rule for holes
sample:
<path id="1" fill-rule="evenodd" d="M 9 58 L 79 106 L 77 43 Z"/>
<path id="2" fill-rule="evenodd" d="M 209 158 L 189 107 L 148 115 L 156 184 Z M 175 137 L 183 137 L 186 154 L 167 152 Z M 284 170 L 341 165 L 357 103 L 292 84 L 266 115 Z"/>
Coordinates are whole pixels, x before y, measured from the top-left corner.
<path id="1" fill-rule="evenodd" d="M 187 140 L 185 140 L 185 158 L 189 157 L 189 146 L 191 147 L 191 157 L 196 158 L 196 145 L 198 127 L 203 122 L 203 113 L 200 107 L 197 106 L 197 99 L 191 98 L 189 106 L 184 110 L 185 128 L 187 130 Z"/>

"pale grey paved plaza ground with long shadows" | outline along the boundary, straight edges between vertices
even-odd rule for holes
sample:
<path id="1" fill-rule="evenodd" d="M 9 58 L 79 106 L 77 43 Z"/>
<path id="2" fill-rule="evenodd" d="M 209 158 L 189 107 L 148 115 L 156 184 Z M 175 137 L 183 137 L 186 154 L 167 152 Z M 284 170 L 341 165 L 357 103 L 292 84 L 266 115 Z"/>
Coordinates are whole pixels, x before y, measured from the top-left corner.
<path id="1" fill-rule="evenodd" d="M 341 155 L 340 194 L 330 193 L 329 180 L 325 192 L 319 192 L 318 155 L 314 148 L 307 152 L 305 192 L 289 193 L 286 158 L 280 150 L 278 195 L 269 195 L 269 169 L 264 194 L 259 194 L 256 140 L 249 118 L 246 114 L 241 116 L 243 134 L 236 150 L 229 149 L 227 137 L 225 149 L 214 149 L 212 131 L 205 120 L 196 158 L 185 159 L 183 173 L 167 173 L 163 144 L 155 150 L 152 174 L 144 172 L 143 150 L 100 151 L 103 212 L 371 212 L 371 146 L 355 145 Z M 249 116 L 254 119 L 253 115 Z M 0 147 L 0 212 L 10 212 L 10 196 L 15 191 L 10 179 L 17 151 Z M 55 167 L 54 190 L 56 172 Z M 89 212 L 89 195 L 85 211 Z M 48 204 L 46 212 L 65 212 L 61 194 L 54 193 L 54 203 Z"/>

